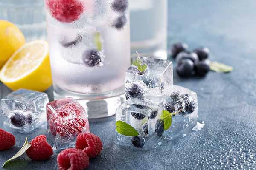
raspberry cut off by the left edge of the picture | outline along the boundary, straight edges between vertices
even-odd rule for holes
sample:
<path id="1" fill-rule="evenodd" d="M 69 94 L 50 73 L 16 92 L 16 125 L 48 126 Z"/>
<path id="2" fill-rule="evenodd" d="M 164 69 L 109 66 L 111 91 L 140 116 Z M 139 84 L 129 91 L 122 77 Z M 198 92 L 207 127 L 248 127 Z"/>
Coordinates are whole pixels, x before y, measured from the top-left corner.
<path id="1" fill-rule="evenodd" d="M 14 145 L 15 137 L 11 133 L 0 129 L 0 150 L 10 149 Z"/>

